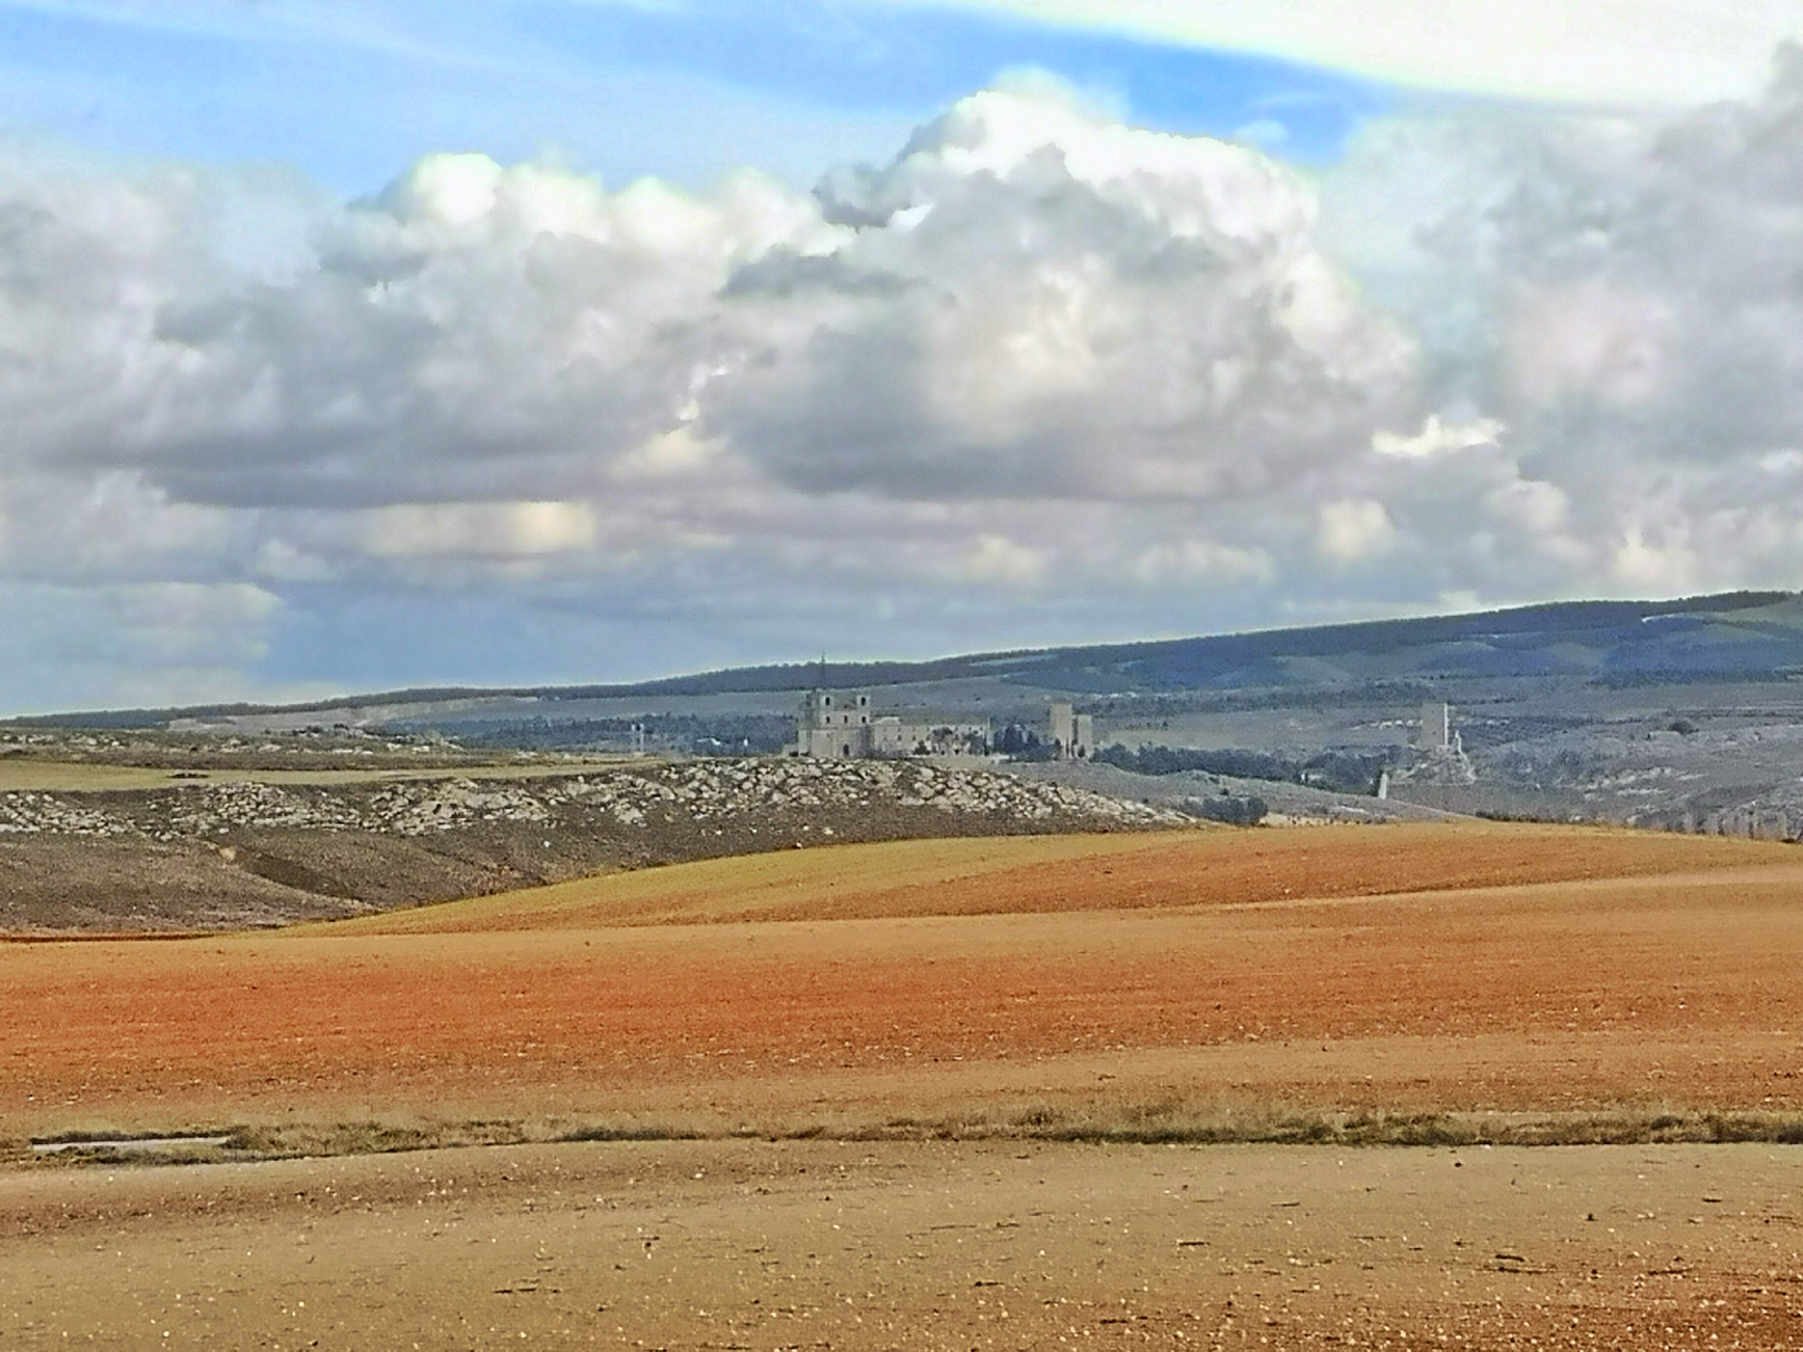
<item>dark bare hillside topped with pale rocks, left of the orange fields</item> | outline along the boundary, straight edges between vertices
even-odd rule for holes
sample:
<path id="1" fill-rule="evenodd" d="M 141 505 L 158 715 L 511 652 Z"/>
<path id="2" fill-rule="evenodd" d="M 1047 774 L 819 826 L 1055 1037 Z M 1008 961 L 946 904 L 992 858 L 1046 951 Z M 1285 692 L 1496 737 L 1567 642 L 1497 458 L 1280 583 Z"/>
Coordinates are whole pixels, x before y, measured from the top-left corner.
<path id="1" fill-rule="evenodd" d="M 1188 822 L 1082 788 L 918 763 L 490 773 L 0 791 L 0 930 L 281 925 L 797 845 Z"/>

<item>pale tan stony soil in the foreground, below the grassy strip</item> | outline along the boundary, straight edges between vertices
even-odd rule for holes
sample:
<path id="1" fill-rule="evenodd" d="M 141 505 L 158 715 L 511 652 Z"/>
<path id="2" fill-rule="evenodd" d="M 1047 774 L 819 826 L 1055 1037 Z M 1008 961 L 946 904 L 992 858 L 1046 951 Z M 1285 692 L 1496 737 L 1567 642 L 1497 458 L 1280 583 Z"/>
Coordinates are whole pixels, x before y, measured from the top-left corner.
<path id="1" fill-rule="evenodd" d="M 4 1348 L 1803 1347 L 1803 1152 L 635 1143 L 0 1174 Z"/>

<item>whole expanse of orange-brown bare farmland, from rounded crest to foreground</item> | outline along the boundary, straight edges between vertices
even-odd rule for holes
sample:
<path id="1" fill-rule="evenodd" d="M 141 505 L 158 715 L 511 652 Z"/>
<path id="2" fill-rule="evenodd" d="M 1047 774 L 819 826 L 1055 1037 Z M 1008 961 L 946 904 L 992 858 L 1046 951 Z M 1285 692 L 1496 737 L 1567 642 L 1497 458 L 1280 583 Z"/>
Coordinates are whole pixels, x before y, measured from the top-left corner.
<path id="1" fill-rule="evenodd" d="M 1803 1137 L 1799 966 L 1794 849 L 1491 824 L 4 943 L 0 1348 L 1803 1348 L 1794 1146 L 1345 1145 Z"/>

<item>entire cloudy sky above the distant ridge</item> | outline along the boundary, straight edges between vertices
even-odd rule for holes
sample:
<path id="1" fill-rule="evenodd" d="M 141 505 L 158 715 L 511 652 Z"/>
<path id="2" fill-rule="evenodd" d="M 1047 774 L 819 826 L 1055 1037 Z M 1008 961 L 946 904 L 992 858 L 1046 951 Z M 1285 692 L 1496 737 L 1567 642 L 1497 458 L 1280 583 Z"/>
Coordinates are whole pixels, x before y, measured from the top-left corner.
<path id="1" fill-rule="evenodd" d="M 0 712 L 1796 588 L 1798 38 L 0 0 Z"/>

